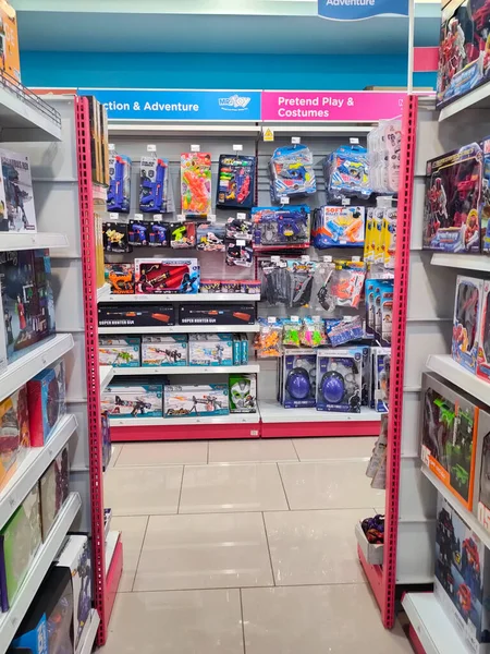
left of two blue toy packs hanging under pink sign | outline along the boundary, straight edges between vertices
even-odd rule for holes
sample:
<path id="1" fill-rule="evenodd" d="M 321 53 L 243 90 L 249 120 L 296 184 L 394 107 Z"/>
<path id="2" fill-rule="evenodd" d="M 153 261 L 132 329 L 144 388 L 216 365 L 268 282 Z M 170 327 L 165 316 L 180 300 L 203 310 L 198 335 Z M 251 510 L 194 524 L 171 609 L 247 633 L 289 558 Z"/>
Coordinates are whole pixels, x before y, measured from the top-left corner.
<path id="1" fill-rule="evenodd" d="M 274 150 L 270 159 L 272 202 L 281 197 L 313 195 L 317 192 L 313 154 L 306 145 L 287 145 Z"/>

